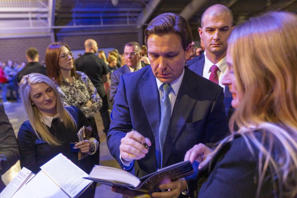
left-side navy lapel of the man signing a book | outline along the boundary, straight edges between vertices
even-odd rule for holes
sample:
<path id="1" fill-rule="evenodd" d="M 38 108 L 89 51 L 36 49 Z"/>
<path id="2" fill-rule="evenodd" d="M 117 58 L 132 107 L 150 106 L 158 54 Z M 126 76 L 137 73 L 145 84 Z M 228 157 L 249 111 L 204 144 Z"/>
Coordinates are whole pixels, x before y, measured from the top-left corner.
<path id="1" fill-rule="evenodd" d="M 144 73 L 142 78 L 144 82 L 138 85 L 141 101 L 143 103 L 149 125 L 153 131 L 155 142 L 159 142 L 159 140 L 156 141 L 156 138 L 158 137 L 160 127 L 161 106 L 157 82 L 151 68 Z"/>

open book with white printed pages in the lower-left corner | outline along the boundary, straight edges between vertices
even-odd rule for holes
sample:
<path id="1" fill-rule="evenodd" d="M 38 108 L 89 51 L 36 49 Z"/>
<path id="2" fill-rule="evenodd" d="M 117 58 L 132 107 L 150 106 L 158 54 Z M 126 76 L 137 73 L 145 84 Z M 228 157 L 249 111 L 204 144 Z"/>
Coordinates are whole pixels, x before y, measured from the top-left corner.
<path id="1" fill-rule="evenodd" d="M 62 153 L 40 168 L 36 175 L 23 168 L 1 192 L 0 198 L 76 198 L 92 183 L 83 179 L 88 174 Z M 11 187 L 11 184 L 14 186 Z"/>

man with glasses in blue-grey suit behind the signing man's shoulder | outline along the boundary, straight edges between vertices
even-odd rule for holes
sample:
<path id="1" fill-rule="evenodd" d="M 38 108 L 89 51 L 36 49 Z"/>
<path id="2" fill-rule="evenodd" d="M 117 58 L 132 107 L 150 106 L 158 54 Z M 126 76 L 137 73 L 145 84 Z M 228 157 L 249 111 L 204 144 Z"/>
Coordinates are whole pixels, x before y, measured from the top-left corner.
<path id="1" fill-rule="evenodd" d="M 140 61 L 140 58 L 141 58 L 140 50 L 141 50 L 140 45 L 137 42 L 129 42 L 125 44 L 124 56 L 125 56 L 126 65 L 112 72 L 110 77 L 111 83 L 110 83 L 109 97 L 110 97 L 110 102 L 112 104 L 114 104 L 114 96 L 115 96 L 115 93 L 117 93 L 120 77 L 123 74 L 137 71 L 147 65 L 144 62 Z"/>

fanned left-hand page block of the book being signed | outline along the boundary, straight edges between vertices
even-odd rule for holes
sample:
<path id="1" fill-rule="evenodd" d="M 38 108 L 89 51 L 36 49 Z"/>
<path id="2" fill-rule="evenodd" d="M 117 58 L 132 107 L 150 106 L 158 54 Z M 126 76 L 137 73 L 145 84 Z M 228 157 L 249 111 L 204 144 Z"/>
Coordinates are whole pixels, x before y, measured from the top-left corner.
<path id="1" fill-rule="evenodd" d="M 140 183 L 140 180 L 133 174 L 125 170 L 108 166 L 95 165 L 89 177 L 110 182 L 131 184 L 134 187 L 137 187 Z"/>

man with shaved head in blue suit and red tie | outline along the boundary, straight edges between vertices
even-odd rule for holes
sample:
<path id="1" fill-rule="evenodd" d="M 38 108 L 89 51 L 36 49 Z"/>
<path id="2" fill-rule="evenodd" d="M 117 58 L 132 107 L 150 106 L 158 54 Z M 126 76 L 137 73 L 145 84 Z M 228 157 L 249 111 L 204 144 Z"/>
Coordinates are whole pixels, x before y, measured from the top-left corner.
<path id="1" fill-rule="evenodd" d="M 206 9 L 201 17 L 201 28 L 198 29 L 205 45 L 205 56 L 189 66 L 189 69 L 204 78 L 211 80 L 211 76 L 216 75 L 216 83 L 224 88 L 224 105 L 228 117 L 233 112 L 232 95 L 228 86 L 222 84 L 222 78 L 227 68 L 227 40 L 232 29 L 233 15 L 229 8 L 216 4 Z"/>

